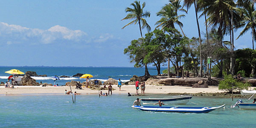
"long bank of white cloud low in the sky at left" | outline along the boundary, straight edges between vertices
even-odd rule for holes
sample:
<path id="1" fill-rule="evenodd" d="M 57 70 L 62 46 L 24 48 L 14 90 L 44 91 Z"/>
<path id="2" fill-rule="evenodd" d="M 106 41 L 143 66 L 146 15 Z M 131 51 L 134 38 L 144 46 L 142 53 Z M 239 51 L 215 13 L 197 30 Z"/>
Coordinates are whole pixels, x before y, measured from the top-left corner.
<path id="1" fill-rule="evenodd" d="M 29 43 L 37 42 L 43 44 L 65 42 L 87 42 L 90 40 L 86 32 L 71 30 L 64 26 L 53 26 L 47 30 L 31 29 L 19 25 L 0 23 L 0 40 L 12 44 L 12 42 Z"/>

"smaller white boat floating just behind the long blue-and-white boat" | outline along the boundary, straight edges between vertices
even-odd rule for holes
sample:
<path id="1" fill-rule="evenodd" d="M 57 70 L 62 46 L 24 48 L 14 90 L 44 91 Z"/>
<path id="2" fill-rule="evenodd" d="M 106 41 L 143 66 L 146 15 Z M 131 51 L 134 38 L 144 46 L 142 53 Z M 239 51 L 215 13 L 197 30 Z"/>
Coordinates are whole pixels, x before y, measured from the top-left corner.
<path id="1" fill-rule="evenodd" d="M 141 101 L 158 102 L 160 100 L 161 102 L 169 102 L 169 104 L 186 104 L 187 102 L 189 102 L 189 100 L 192 97 L 193 96 L 180 95 L 180 96 L 170 96 L 170 98 L 147 98 L 147 99 L 141 99 Z"/>

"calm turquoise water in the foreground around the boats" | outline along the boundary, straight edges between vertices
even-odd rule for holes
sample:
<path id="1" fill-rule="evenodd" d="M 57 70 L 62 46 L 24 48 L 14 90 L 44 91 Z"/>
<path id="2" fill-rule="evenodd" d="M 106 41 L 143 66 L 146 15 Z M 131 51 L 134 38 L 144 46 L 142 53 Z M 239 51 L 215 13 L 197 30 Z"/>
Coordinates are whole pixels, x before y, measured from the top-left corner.
<path id="1" fill-rule="evenodd" d="M 139 96 L 164 97 L 167 95 Z M 236 99 L 193 97 L 187 105 L 215 107 L 210 113 L 145 112 L 131 108 L 137 96 L 0 96 L 1 127 L 16 128 L 255 128 L 256 111 L 230 108 Z M 167 106 L 167 105 L 166 105 Z M 172 105 L 173 106 L 173 105 Z"/>

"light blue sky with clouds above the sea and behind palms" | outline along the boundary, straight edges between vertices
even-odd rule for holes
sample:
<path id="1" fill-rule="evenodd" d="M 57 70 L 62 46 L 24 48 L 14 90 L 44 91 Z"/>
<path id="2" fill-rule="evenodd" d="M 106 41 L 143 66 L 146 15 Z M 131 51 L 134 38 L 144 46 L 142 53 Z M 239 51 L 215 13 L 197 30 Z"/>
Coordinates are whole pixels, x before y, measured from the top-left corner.
<path id="1" fill-rule="evenodd" d="M 121 29 L 134 0 L 1 0 L 0 66 L 133 67 L 123 50 L 140 38 L 139 26 Z M 151 29 L 156 13 L 168 0 L 141 0 Z M 180 13 L 181 14 L 181 13 Z M 180 19 L 189 38 L 198 37 L 195 9 Z M 122 21 L 121 21 L 122 20 Z M 201 34 L 204 18 L 199 19 Z M 175 26 L 178 30 L 179 27 Z M 234 33 L 238 37 L 242 29 Z M 143 29 L 143 35 L 147 33 Z M 224 38 L 229 40 L 229 37 Z M 250 31 L 234 42 L 236 49 L 252 48 Z M 149 65 L 152 66 L 152 65 Z"/>

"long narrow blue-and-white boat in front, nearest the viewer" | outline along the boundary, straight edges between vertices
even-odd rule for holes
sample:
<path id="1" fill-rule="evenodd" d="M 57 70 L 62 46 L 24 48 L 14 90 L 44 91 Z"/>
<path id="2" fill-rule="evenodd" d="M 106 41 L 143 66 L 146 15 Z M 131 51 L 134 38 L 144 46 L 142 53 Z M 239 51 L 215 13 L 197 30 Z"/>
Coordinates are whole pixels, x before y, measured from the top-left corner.
<path id="1" fill-rule="evenodd" d="M 180 113 L 209 113 L 215 109 L 224 107 L 154 107 L 154 106 L 131 106 L 141 111 L 155 111 L 155 112 L 180 112 Z"/>

